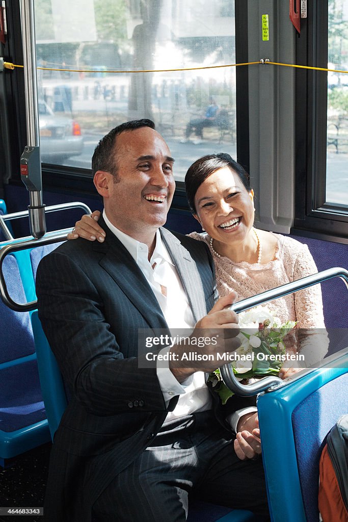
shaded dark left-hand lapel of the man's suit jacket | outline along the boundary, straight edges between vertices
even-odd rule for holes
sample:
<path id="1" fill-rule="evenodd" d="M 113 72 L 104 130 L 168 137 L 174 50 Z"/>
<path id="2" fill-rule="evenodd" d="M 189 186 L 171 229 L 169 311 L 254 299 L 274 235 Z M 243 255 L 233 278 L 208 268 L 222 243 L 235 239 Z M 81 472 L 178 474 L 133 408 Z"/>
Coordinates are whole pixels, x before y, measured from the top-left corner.
<path id="1" fill-rule="evenodd" d="M 106 230 L 104 243 L 93 244 L 94 250 L 104 253 L 99 262 L 100 266 L 110 274 L 149 326 L 167 329 L 160 305 L 135 260 L 121 241 L 107 229 L 102 218 L 99 224 Z"/>

